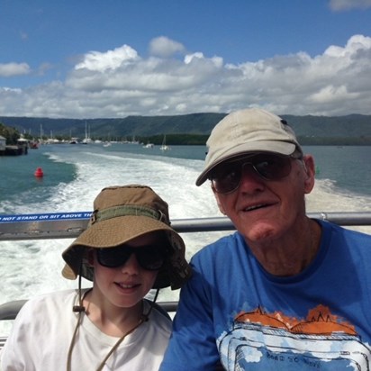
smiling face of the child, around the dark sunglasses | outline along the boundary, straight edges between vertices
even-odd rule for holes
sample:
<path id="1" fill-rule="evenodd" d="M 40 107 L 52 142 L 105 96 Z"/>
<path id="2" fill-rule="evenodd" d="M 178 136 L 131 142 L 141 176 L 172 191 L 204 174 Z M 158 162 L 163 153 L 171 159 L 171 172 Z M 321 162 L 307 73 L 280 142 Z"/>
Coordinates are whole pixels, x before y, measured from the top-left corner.
<path id="1" fill-rule="evenodd" d="M 158 233 L 149 233 L 131 240 L 126 245 L 140 249 L 144 246 L 156 245 L 158 240 Z M 95 286 L 102 298 L 122 308 L 130 308 L 139 303 L 148 294 L 158 274 L 157 270 L 140 267 L 135 254 L 131 254 L 121 267 L 104 267 L 98 262 L 95 251 L 94 267 Z"/>

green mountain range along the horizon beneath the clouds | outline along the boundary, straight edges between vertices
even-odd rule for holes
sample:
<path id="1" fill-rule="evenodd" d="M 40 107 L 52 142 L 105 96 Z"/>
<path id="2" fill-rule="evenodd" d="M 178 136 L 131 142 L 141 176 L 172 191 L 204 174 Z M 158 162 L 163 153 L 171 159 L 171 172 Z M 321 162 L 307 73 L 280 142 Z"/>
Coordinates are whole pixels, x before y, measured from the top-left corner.
<path id="1" fill-rule="evenodd" d="M 174 116 L 128 116 L 122 119 L 50 119 L 0 117 L 0 122 L 32 137 L 71 137 L 93 140 L 132 140 L 167 144 L 204 144 L 213 126 L 226 113 L 190 113 Z M 371 115 L 295 116 L 281 115 L 302 144 L 371 144 Z"/>

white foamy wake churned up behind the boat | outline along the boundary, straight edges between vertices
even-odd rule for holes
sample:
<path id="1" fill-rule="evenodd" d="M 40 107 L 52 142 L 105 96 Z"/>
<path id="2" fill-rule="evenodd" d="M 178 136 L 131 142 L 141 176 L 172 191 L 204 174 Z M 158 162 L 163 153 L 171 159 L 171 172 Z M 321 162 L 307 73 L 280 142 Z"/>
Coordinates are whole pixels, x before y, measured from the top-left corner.
<path id="1" fill-rule="evenodd" d="M 38 204 L 25 204 L 32 194 L 20 195 L 20 202 L 3 203 L 1 208 L 13 213 L 59 213 L 90 211 L 95 196 L 108 185 L 145 184 L 151 186 L 169 204 L 171 219 L 222 216 L 215 204 L 210 186 L 195 186 L 195 179 L 204 162 L 183 158 L 145 157 L 125 153 L 81 153 L 78 158 L 68 152 L 51 153 L 56 162 L 69 162 L 77 167 L 77 179 L 60 184 L 54 193 Z M 337 188 L 330 180 L 317 180 L 311 195 L 307 196 L 308 212 L 369 211 L 371 197 L 350 195 Z M 36 208 L 36 210 L 35 210 Z M 367 210 L 368 209 L 368 210 Z M 3 210 L 0 210 L 2 212 Z M 360 230 L 371 232 L 369 227 Z M 229 232 L 194 233 L 183 235 L 187 247 L 186 258 L 205 244 Z M 61 252 L 72 240 L 35 240 L 2 242 L 0 265 L 1 302 L 27 299 L 35 294 L 77 287 L 60 275 L 63 261 Z M 86 283 L 84 284 L 86 285 Z M 162 290 L 158 300 L 177 300 L 178 291 Z M 0 334 L 9 330 L 2 327 Z M 6 326 L 6 325 L 5 325 Z"/>

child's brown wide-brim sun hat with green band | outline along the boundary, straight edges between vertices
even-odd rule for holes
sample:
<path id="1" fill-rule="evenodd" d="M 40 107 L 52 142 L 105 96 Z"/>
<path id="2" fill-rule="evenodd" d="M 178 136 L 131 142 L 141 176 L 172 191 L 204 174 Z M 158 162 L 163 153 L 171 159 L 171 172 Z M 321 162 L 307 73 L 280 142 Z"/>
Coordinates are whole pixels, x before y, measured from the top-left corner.
<path id="1" fill-rule="evenodd" d="M 62 275 L 68 279 L 81 275 L 93 281 L 94 268 L 87 264 L 87 249 L 118 247 L 152 231 L 163 231 L 169 247 L 153 288 L 177 289 L 191 276 L 185 243 L 170 227 L 167 203 L 146 185 L 111 186 L 96 196 L 86 231 L 62 253 L 67 263 Z"/>

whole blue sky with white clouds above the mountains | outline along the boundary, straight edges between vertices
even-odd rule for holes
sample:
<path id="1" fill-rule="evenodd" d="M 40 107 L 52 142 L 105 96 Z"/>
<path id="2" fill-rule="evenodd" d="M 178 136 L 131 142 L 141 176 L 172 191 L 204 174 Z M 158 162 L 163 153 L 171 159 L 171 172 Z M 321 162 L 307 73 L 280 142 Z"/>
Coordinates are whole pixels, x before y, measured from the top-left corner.
<path id="1" fill-rule="evenodd" d="M 371 0 L 0 0 L 0 116 L 371 114 Z"/>

